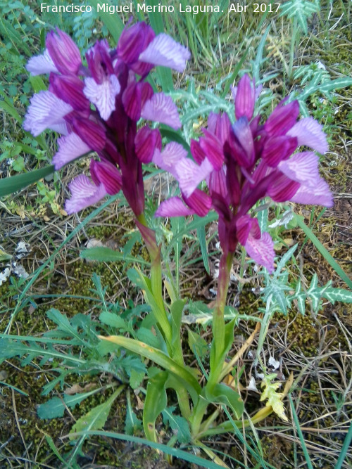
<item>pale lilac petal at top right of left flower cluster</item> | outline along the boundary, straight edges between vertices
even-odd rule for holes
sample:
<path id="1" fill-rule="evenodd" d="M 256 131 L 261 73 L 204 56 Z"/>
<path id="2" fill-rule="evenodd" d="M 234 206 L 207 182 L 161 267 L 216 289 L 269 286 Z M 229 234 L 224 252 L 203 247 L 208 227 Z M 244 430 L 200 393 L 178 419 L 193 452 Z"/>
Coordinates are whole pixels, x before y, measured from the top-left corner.
<path id="1" fill-rule="evenodd" d="M 189 58 L 191 58 L 191 53 L 187 47 L 164 33 L 158 34 L 139 56 L 139 60 L 143 62 L 170 67 L 177 72 L 183 72 L 186 60 Z"/>

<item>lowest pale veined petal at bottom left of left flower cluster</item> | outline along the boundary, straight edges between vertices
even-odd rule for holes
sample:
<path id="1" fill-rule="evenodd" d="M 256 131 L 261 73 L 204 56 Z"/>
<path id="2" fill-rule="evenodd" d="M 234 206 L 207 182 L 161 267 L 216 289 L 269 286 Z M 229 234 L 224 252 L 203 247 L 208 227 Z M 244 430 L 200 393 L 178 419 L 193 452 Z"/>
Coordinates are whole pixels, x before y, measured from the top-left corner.
<path id="1" fill-rule="evenodd" d="M 87 176 L 80 174 L 68 185 L 72 197 L 66 200 L 65 210 L 68 214 L 80 212 L 80 210 L 94 205 L 107 194 L 103 184 L 96 186 Z"/>

